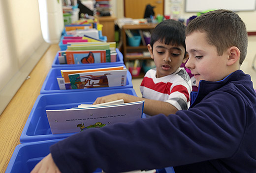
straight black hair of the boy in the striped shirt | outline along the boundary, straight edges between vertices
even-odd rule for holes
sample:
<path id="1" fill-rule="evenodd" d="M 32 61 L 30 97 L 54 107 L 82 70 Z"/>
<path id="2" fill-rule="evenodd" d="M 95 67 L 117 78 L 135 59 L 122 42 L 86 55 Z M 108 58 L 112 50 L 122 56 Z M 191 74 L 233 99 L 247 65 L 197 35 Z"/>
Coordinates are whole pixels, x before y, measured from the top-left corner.
<path id="1" fill-rule="evenodd" d="M 150 45 L 153 49 L 154 43 L 160 40 L 165 45 L 182 45 L 186 50 L 185 30 L 186 26 L 179 21 L 164 20 L 154 28 Z"/>

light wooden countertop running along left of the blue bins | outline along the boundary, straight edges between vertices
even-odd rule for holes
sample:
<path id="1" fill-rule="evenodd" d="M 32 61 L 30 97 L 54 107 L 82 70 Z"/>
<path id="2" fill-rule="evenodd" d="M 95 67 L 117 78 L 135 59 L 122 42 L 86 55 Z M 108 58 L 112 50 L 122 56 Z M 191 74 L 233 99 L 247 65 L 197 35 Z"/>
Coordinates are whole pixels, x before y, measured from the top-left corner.
<path id="1" fill-rule="evenodd" d="M 49 47 L 0 115 L 0 173 L 5 172 L 14 148 L 20 144 L 23 127 L 59 49 L 58 44 Z"/>

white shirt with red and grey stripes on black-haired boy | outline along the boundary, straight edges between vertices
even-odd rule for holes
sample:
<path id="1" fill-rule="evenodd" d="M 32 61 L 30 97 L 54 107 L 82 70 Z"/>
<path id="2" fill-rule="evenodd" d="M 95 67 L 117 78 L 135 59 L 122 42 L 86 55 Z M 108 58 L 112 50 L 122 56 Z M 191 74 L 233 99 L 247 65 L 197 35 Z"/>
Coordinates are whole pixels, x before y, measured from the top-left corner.
<path id="1" fill-rule="evenodd" d="M 189 74 L 178 68 L 173 74 L 156 77 L 156 68 L 149 70 L 140 85 L 143 98 L 166 101 L 178 110 L 188 109 L 192 85 Z"/>

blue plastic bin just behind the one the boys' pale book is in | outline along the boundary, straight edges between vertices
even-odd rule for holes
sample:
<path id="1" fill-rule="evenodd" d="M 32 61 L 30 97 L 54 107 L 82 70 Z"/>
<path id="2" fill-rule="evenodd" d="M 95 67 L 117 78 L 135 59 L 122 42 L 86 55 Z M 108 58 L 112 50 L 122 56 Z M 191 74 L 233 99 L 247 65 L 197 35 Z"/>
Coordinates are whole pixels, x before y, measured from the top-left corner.
<path id="1" fill-rule="evenodd" d="M 86 66 L 86 67 L 59 67 L 52 68 L 47 74 L 43 86 L 41 88 L 40 94 L 49 94 L 49 93 L 69 93 L 69 92 L 81 92 L 81 91 L 96 91 L 96 90 L 111 90 L 111 89 L 123 89 L 123 88 L 132 88 L 131 83 L 131 74 L 127 71 L 127 80 L 125 86 L 116 86 L 116 87 L 96 87 L 96 88 L 85 88 L 85 89 L 70 89 L 70 90 L 60 90 L 57 77 L 62 77 L 61 70 L 78 70 L 78 69 L 94 69 L 94 68 L 104 68 L 104 67 L 115 67 L 116 64 L 108 64 L 104 66 Z M 120 65 L 124 66 L 125 65 Z"/>

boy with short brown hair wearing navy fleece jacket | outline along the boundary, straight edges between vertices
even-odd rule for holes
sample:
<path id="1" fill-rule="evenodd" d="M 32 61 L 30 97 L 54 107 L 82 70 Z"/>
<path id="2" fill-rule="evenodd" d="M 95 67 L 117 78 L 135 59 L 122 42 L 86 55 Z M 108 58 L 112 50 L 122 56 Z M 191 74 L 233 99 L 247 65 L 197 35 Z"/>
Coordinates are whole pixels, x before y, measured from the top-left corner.
<path id="1" fill-rule="evenodd" d="M 198 86 L 188 110 L 75 134 L 51 146 L 32 173 L 168 166 L 175 173 L 256 173 L 256 93 L 239 70 L 248 45 L 243 21 L 232 11 L 211 11 L 186 34 L 186 67 Z"/>

